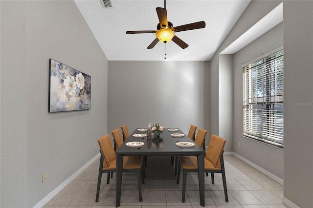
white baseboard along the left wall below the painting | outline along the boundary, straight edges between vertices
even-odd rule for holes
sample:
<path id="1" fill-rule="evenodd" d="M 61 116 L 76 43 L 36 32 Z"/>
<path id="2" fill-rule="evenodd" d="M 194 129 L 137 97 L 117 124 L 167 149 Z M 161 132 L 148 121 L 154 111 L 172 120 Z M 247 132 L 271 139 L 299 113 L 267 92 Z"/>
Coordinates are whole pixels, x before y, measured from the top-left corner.
<path id="1" fill-rule="evenodd" d="M 100 152 L 94 156 L 91 160 L 89 160 L 84 166 L 79 168 L 76 172 L 74 172 L 71 176 L 67 178 L 62 184 L 58 187 L 54 188 L 50 193 L 48 193 L 42 200 L 40 200 L 34 208 L 42 208 L 45 204 L 50 201 L 55 195 L 57 195 L 64 187 L 67 186 L 76 176 L 78 176 L 81 172 L 83 172 L 88 166 L 90 166 L 96 159 L 100 157 Z"/>

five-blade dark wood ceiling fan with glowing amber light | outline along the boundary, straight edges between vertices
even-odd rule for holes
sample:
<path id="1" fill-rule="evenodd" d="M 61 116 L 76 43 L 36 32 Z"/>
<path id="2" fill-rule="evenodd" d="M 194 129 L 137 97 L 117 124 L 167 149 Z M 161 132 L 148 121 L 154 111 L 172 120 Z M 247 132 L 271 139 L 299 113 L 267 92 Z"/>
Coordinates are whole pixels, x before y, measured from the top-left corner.
<path id="1" fill-rule="evenodd" d="M 157 30 L 138 30 L 126 32 L 126 34 L 156 33 L 156 39 L 151 42 L 151 44 L 147 47 L 148 49 L 153 48 L 159 41 L 167 43 L 171 40 L 178 44 L 182 49 L 185 49 L 186 47 L 188 47 L 188 44 L 179 39 L 179 37 L 177 37 L 175 33 L 186 30 L 201 29 L 205 27 L 204 21 L 198 21 L 174 27 L 172 22 L 167 21 L 166 0 L 164 0 L 164 8 L 157 7 L 156 13 L 159 20 L 159 23 L 156 26 Z"/>

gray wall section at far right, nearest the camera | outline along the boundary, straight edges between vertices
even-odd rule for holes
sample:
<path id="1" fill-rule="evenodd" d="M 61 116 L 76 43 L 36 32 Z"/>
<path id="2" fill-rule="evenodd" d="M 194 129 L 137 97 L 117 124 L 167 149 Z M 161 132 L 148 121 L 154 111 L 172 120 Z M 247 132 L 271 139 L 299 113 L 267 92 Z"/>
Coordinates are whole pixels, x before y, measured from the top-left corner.
<path id="1" fill-rule="evenodd" d="M 284 197 L 313 205 L 313 1 L 284 1 Z M 309 105 L 297 105 L 308 103 Z"/>

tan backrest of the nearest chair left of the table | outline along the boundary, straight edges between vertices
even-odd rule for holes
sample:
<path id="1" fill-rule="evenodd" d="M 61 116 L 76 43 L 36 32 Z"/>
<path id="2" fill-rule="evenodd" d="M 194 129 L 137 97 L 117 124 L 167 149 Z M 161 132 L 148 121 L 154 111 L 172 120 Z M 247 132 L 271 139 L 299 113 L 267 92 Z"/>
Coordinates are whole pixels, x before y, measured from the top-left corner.
<path id="1" fill-rule="evenodd" d="M 107 134 L 100 137 L 98 139 L 98 144 L 100 146 L 101 154 L 104 158 L 103 167 L 109 167 L 110 163 L 116 158 L 110 135 Z"/>

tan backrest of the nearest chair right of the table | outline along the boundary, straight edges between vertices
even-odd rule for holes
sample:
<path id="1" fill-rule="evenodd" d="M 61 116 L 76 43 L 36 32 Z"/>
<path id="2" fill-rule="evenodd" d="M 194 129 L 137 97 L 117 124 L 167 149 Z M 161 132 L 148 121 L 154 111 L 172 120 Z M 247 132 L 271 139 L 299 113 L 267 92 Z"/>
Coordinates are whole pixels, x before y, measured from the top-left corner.
<path id="1" fill-rule="evenodd" d="M 211 135 L 211 140 L 205 158 L 208 159 L 215 167 L 221 167 L 221 155 L 225 146 L 226 140 L 222 137 Z"/>

